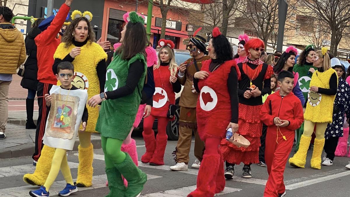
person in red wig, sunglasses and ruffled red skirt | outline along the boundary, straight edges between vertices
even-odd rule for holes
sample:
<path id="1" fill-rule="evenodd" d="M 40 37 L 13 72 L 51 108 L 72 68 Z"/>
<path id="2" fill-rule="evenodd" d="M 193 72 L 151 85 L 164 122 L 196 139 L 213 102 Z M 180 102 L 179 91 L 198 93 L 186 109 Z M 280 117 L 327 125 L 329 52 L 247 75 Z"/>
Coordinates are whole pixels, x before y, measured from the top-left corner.
<path id="1" fill-rule="evenodd" d="M 259 112 L 262 106 L 261 95 L 271 94 L 270 78 L 273 74 L 272 66 L 260 60 L 264 51 L 264 42 L 258 38 L 250 39 L 244 45 L 248 56 L 238 63 L 241 80 L 238 82 L 239 117 L 238 133 L 249 142 L 248 148 L 237 147 L 225 139 L 221 141 L 220 150 L 226 161 L 225 177 L 232 179 L 235 164 L 244 163 L 243 178 L 251 178 L 252 163 L 259 163 L 260 136 L 262 123 Z M 263 87 L 264 84 L 264 87 Z"/>

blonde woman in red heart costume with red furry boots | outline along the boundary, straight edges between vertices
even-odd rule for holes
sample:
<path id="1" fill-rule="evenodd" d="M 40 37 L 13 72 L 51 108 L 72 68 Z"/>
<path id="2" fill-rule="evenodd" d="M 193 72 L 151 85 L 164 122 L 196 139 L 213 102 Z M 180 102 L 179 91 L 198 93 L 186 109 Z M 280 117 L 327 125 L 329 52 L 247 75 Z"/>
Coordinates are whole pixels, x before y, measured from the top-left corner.
<path id="1" fill-rule="evenodd" d="M 153 107 L 151 115 L 144 119 L 143 135 L 147 140 L 145 141 L 146 152 L 141 157 L 142 163 L 149 163 L 149 165 L 164 165 L 163 157 L 168 139 L 166 127 L 169 121 L 174 120 L 168 118 L 167 113 L 169 106 L 175 104 L 175 93 L 181 91 L 181 84 L 176 77 L 178 69 L 173 50 L 175 45 L 172 41 L 164 39 L 161 39 L 158 44 L 161 48 L 158 53 L 158 65 L 153 68 L 155 83 Z M 158 119 L 156 138 L 152 130 L 155 119 Z"/>

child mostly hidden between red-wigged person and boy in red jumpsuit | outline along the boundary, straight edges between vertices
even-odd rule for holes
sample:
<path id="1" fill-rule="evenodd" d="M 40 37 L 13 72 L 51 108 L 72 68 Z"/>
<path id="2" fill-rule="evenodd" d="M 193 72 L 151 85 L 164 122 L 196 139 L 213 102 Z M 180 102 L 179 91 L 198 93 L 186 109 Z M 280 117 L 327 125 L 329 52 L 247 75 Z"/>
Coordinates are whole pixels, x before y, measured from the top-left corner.
<path id="1" fill-rule="evenodd" d="M 276 86 L 277 85 L 277 75 L 272 74 L 271 75 L 271 94 L 275 93 Z M 267 96 L 269 94 L 265 94 L 262 96 L 262 103 L 265 103 Z M 266 167 L 266 162 L 265 162 L 265 139 L 266 139 L 266 131 L 267 131 L 267 126 L 266 124 L 262 123 L 262 134 L 260 137 L 260 148 L 259 148 L 259 163 L 261 167 Z"/>

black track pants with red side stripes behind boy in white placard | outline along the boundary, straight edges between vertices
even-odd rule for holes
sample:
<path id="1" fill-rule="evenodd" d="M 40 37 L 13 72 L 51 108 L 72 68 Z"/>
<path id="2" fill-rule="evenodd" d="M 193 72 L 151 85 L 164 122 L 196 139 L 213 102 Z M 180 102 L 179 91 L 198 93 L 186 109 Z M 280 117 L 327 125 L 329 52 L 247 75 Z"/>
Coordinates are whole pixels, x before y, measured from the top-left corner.
<path id="1" fill-rule="evenodd" d="M 50 89 L 52 87 L 52 84 L 49 83 L 41 83 L 38 82 L 38 88 L 37 88 L 37 96 L 44 96 L 45 94 L 50 94 Z M 35 161 L 38 161 L 41 149 L 43 148 L 42 139 L 45 133 L 45 126 L 46 126 L 46 120 L 49 116 L 50 108 L 46 106 L 45 98 L 41 97 L 38 98 L 38 106 L 39 106 L 39 116 L 38 121 L 36 122 L 36 132 L 35 132 L 35 152 L 32 156 L 32 158 Z"/>

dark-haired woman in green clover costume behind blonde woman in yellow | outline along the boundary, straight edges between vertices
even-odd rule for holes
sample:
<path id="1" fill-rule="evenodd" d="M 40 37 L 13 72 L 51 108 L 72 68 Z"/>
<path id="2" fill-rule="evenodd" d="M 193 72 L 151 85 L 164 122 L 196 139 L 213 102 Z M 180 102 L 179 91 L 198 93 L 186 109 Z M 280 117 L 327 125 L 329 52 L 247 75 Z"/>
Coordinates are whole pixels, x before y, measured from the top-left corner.
<path id="1" fill-rule="evenodd" d="M 317 70 L 316 67 L 313 66 L 313 62 L 315 60 L 315 46 L 308 45 L 305 47 L 303 52 L 301 52 L 299 56 L 299 63 L 295 64 L 293 67 L 293 71 L 299 74 L 299 87 L 304 95 L 305 101 L 307 101 L 307 93 L 310 89 L 310 81 L 311 76 Z M 295 152 L 299 149 L 300 137 L 304 132 L 304 123 L 302 123 L 301 127 L 296 130 L 296 147 Z"/>

